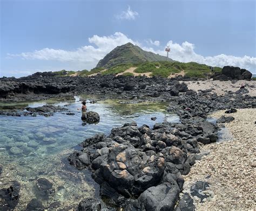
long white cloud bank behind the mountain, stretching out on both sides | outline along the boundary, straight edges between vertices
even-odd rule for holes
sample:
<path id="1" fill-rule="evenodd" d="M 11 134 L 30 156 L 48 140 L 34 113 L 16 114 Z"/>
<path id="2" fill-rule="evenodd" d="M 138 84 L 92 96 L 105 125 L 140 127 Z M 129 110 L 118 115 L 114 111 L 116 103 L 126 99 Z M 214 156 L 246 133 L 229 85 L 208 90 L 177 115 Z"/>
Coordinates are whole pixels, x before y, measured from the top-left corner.
<path id="1" fill-rule="evenodd" d="M 152 41 L 152 40 L 151 40 Z M 155 46 L 158 45 L 158 40 L 152 41 Z M 95 67 L 100 59 L 118 45 L 131 42 L 135 45 L 142 47 L 146 51 L 152 51 L 159 55 L 166 55 L 164 49 L 153 49 L 142 45 L 136 40 L 132 40 L 121 32 L 116 32 L 110 36 L 94 35 L 89 38 L 91 45 L 79 47 L 73 51 L 66 51 L 63 49 L 50 49 L 45 48 L 33 52 L 23 52 L 17 55 L 8 54 L 8 57 L 21 57 L 23 59 L 39 59 L 39 60 L 55 60 L 69 64 L 72 70 L 92 69 Z M 150 41 L 148 41 L 150 43 Z M 243 56 L 235 57 L 228 55 L 217 55 L 204 57 L 194 51 L 194 44 L 184 42 L 182 44 L 173 43 L 170 40 L 167 45 L 170 46 L 171 52 L 169 57 L 179 62 L 198 62 L 201 64 L 223 67 L 225 65 L 239 66 L 256 72 L 256 58 Z M 66 65 L 66 64 L 65 64 Z M 40 68 L 40 67 L 39 67 Z M 56 69 L 55 69 L 56 70 Z"/>

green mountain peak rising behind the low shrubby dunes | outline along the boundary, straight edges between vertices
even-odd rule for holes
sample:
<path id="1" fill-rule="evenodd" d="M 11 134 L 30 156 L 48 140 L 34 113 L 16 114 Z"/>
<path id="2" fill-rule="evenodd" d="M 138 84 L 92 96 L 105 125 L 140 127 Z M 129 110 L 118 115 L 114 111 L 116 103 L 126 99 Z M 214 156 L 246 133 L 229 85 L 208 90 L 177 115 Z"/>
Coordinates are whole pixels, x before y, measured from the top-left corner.
<path id="1" fill-rule="evenodd" d="M 156 53 L 144 51 L 139 46 L 132 43 L 126 43 L 125 45 L 117 46 L 110 53 L 99 60 L 96 67 L 110 67 L 120 64 L 139 64 L 143 62 L 157 62 L 165 61 L 166 57 L 157 55 Z M 172 60 L 172 59 L 169 59 Z"/>

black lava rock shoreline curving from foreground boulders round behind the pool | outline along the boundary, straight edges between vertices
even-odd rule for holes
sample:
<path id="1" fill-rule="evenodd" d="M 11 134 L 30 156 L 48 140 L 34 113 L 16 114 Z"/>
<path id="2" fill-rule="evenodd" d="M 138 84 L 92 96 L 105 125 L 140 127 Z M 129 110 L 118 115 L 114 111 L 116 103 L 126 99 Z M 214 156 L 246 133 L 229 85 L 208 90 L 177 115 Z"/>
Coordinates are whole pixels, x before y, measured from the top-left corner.
<path id="1" fill-rule="evenodd" d="M 201 159 L 200 145 L 218 140 L 221 125 L 208 122 L 208 115 L 218 110 L 256 107 L 256 98 L 248 95 L 246 89 L 218 96 L 212 89 L 196 92 L 188 90 L 184 83 L 163 78 L 96 76 L 22 80 L 6 79 L 0 85 L 3 101 L 17 100 L 30 93 L 38 94 L 38 98 L 45 94 L 56 97 L 56 94 L 81 92 L 119 94 L 119 98 L 124 99 L 152 97 L 170 101 L 168 111 L 180 117 L 179 124 L 165 121 L 150 128 L 138 127 L 132 122 L 113 128 L 108 136 L 97 134 L 86 139 L 81 144 L 82 151 L 73 152 L 68 159 L 78 169 L 90 169 L 100 185 L 103 201 L 84 199 L 78 210 L 100 210 L 103 206 L 106 210 L 194 210 L 191 196 L 181 192 L 184 175 Z M 55 83 L 47 85 L 52 81 Z M 30 112 L 40 112 L 40 109 Z M 195 195 L 200 194 L 200 187 L 208 187 L 207 183 L 197 182 L 193 186 Z M 10 187 L 1 191 L 8 198 L 8 195 L 12 197 L 12 191 L 18 195 L 18 190 Z"/>

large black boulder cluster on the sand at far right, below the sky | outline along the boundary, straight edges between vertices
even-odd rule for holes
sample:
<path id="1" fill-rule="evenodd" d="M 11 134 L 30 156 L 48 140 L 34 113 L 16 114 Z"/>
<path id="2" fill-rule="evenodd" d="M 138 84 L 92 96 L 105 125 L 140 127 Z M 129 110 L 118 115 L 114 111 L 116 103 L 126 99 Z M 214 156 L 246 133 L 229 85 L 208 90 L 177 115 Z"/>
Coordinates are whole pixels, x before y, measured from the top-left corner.
<path id="1" fill-rule="evenodd" d="M 219 76 L 215 76 L 213 80 L 245 80 L 251 79 L 252 73 L 246 69 L 240 69 L 240 67 L 233 67 L 233 66 L 224 66 L 221 74 Z"/>

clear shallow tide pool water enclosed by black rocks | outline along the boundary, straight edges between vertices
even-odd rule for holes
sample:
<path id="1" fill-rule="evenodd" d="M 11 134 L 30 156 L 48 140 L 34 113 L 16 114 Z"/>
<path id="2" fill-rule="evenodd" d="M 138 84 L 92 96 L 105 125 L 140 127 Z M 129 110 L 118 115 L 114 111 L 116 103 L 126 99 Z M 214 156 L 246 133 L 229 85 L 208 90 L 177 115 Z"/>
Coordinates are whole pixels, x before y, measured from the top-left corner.
<path id="1" fill-rule="evenodd" d="M 125 100 L 102 100 L 87 104 L 87 111 L 99 113 L 100 122 L 82 126 L 82 113 L 77 110 L 81 107 L 78 97 L 69 101 L 34 102 L 29 106 L 37 107 L 45 103 L 69 104 L 66 108 L 75 115 L 57 112 L 51 117 L 0 116 L 0 166 L 3 168 L 0 187 L 9 187 L 14 180 L 21 183 L 17 210 L 23 210 L 32 198 L 40 199 L 46 207 L 58 201 L 62 208 L 67 208 L 76 207 L 80 200 L 88 196 L 97 197 L 98 186 L 92 180 L 91 173 L 88 170 L 77 171 L 67 162 L 73 147 L 84 139 L 99 132 L 109 134 L 113 127 L 131 121 L 150 127 L 163 120 L 179 121 L 177 115 L 166 113 L 166 103 L 130 104 Z M 26 105 L 22 103 L 20 106 Z M 151 117 L 157 117 L 157 120 L 152 121 Z M 41 177 L 51 181 L 55 188 L 55 194 L 49 199 L 43 199 L 38 194 L 36 179 Z"/>

